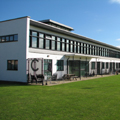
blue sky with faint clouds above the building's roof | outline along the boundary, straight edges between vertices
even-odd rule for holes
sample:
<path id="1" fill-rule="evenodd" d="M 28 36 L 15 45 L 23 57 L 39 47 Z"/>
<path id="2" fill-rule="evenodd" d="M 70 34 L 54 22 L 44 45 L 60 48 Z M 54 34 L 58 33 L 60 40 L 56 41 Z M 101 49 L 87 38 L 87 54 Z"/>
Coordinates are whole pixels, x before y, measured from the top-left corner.
<path id="1" fill-rule="evenodd" d="M 0 0 L 0 21 L 51 19 L 73 33 L 120 47 L 120 0 Z"/>

